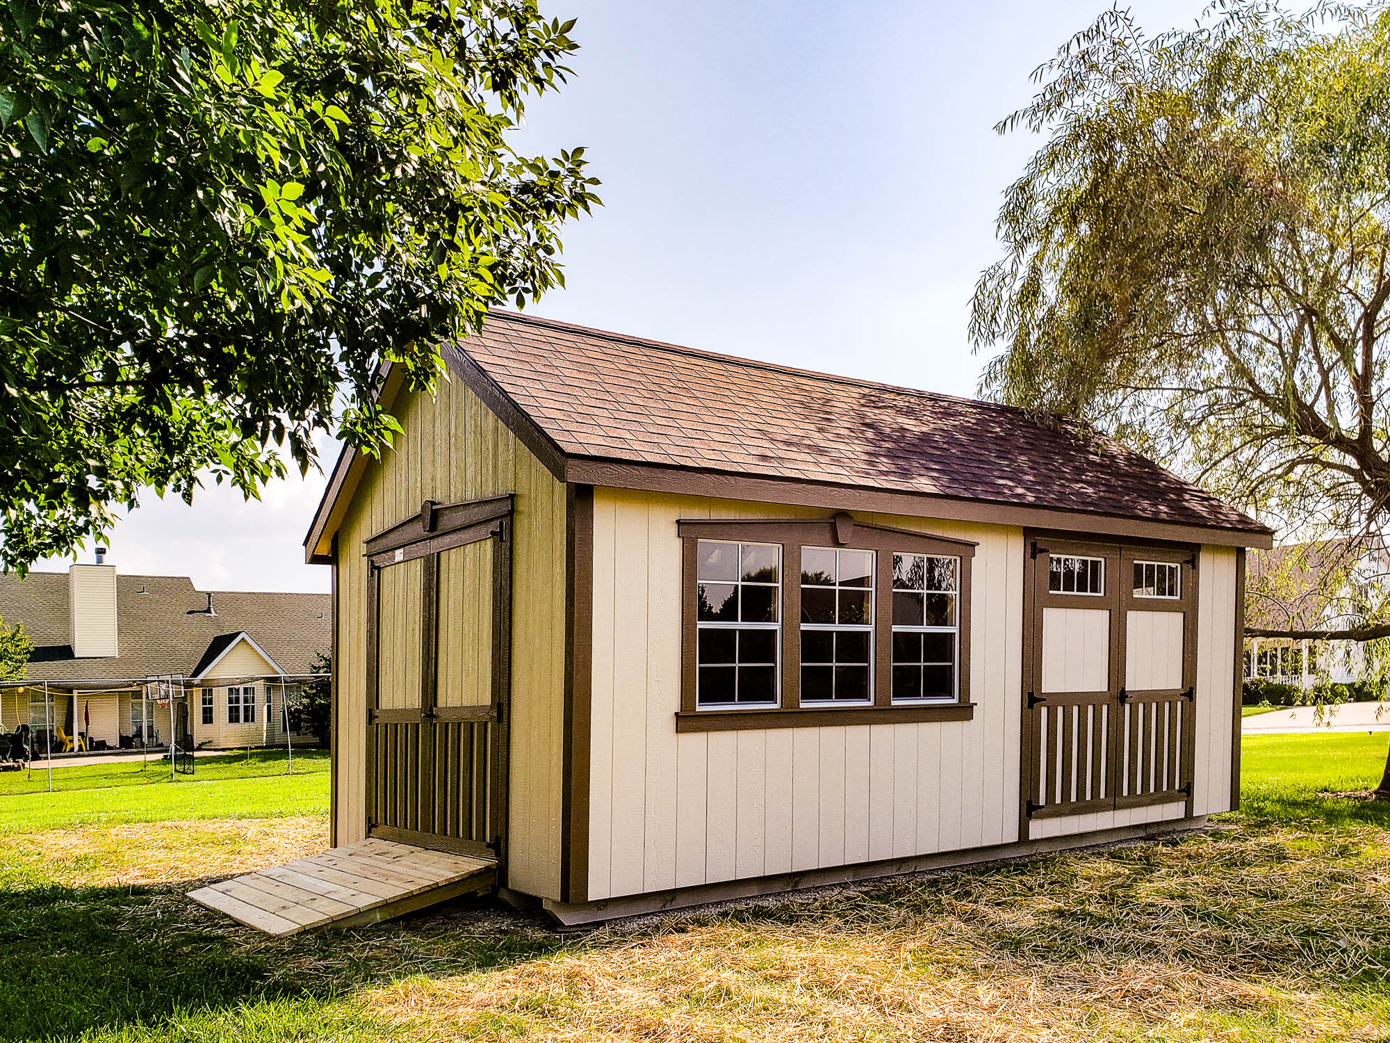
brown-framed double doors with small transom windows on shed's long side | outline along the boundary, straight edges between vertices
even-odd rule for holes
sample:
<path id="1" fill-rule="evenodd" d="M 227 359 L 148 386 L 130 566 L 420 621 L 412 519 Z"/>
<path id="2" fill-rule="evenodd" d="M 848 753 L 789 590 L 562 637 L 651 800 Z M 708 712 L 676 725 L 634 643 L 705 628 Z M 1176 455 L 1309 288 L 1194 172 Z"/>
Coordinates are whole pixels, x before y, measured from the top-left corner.
<path id="1" fill-rule="evenodd" d="M 1191 802 L 1197 553 L 1027 542 L 1023 822 Z"/>

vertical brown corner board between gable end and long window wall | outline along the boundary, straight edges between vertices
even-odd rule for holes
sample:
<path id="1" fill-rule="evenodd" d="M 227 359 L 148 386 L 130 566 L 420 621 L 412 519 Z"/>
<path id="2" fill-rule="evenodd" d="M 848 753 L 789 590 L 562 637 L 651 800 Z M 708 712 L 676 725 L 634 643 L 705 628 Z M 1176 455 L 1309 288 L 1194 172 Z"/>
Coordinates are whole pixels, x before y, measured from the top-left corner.
<path id="1" fill-rule="evenodd" d="M 567 485 L 564 512 L 564 761 L 560 894 L 588 900 L 594 684 L 594 487 Z"/>

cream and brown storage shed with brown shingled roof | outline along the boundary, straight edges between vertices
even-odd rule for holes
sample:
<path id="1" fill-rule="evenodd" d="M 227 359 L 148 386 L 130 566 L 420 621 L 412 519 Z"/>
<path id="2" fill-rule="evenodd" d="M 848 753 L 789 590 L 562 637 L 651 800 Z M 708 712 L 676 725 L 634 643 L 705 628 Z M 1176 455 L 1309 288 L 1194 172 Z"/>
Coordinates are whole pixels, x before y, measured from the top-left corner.
<path id="1" fill-rule="evenodd" d="M 1259 523 L 1015 409 L 495 313 L 345 453 L 335 843 L 567 923 L 1237 800 Z"/>

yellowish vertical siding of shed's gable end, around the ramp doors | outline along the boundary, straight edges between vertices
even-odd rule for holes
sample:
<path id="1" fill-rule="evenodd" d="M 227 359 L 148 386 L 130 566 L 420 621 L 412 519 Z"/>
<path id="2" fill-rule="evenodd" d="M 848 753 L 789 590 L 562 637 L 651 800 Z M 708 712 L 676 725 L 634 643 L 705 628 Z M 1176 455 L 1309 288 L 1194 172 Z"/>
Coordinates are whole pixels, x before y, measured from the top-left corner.
<path id="1" fill-rule="evenodd" d="M 510 492 L 516 515 L 507 884 L 559 898 L 566 488 L 459 381 L 441 377 L 434 401 L 402 391 L 393 409 L 403 434 L 381 462 L 366 464 L 338 530 L 338 843 L 359 840 L 366 830 L 363 542 L 417 513 L 425 499 L 450 503 Z M 467 569 L 450 569 L 442 579 L 477 581 Z M 464 597 L 446 587 L 441 592 Z M 471 684 L 466 698 L 478 697 L 477 683 Z"/>

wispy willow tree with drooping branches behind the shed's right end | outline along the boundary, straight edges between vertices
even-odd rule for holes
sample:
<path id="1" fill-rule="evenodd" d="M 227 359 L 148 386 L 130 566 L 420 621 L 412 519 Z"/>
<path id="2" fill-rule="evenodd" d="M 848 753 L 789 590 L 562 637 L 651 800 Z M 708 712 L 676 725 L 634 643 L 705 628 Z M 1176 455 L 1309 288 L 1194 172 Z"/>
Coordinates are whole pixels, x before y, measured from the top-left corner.
<path id="1" fill-rule="evenodd" d="M 1152 38 L 1111 10 L 1036 76 L 998 127 L 1044 140 L 972 302 L 973 342 L 998 349 L 984 392 L 1106 430 L 1284 533 L 1377 534 L 1386 4 L 1219 3 Z"/>

